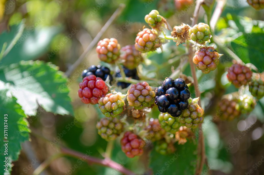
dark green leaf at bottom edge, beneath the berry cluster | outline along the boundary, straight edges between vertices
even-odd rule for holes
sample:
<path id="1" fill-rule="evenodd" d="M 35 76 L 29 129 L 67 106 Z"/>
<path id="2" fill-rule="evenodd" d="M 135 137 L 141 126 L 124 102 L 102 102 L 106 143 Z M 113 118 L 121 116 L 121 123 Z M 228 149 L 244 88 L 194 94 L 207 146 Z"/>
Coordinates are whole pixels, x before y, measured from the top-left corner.
<path id="1" fill-rule="evenodd" d="M 153 174 L 195 174 L 197 144 L 188 140 L 184 145 L 177 145 L 176 151 L 171 155 L 161 155 L 152 151 L 150 167 Z"/>

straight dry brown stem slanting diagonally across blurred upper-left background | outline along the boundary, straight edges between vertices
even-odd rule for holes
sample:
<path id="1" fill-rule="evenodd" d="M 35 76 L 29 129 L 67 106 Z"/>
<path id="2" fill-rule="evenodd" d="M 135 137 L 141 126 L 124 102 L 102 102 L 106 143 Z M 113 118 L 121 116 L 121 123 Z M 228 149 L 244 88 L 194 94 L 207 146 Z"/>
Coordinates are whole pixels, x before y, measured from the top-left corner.
<path id="1" fill-rule="evenodd" d="M 124 10 L 124 8 L 125 8 L 125 4 L 119 5 L 119 7 L 116 9 L 116 11 L 113 13 L 113 15 L 109 18 L 109 20 L 105 23 L 105 25 L 102 27 L 102 29 L 98 32 L 98 34 L 95 36 L 95 38 L 92 40 L 92 42 L 88 45 L 88 47 L 84 50 L 84 52 L 81 54 L 81 56 L 65 72 L 65 75 L 67 77 L 69 77 L 72 74 L 72 72 L 83 62 L 87 53 L 95 46 L 95 44 L 97 44 L 97 42 L 99 41 L 101 36 L 105 33 L 105 31 L 112 24 L 112 22 L 121 14 L 121 12 Z"/>

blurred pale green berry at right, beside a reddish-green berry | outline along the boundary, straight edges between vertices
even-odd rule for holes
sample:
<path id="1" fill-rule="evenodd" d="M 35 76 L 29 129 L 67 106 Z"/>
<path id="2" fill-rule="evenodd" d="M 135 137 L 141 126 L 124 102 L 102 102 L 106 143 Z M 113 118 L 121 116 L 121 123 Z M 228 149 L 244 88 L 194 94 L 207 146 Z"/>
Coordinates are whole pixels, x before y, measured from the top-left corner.
<path id="1" fill-rule="evenodd" d="M 244 94 L 238 97 L 239 109 L 242 114 L 250 113 L 256 105 L 256 101 L 252 95 Z"/>

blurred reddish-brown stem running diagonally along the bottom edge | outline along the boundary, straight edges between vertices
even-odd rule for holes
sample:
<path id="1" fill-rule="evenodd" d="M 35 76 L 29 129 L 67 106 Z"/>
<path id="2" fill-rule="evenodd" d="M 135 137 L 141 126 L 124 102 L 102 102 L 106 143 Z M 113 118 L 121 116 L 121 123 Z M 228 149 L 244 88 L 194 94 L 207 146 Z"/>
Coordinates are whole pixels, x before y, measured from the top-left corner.
<path id="1" fill-rule="evenodd" d="M 92 157 L 89 155 L 85 155 L 83 153 L 79 153 L 77 151 L 74 151 L 74 150 L 71 150 L 68 148 L 60 148 L 60 151 L 63 154 L 66 154 L 69 156 L 85 159 L 87 163 L 98 164 L 98 165 L 102 165 L 105 167 L 110 167 L 110 168 L 113 168 L 116 171 L 119 171 L 120 173 L 123 173 L 125 175 L 136 175 L 134 172 L 130 171 L 129 169 L 126 169 L 121 164 L 116 163 L 109 158 L 98 159 L 98 158 L 95 158 L 95 157 Z"/>

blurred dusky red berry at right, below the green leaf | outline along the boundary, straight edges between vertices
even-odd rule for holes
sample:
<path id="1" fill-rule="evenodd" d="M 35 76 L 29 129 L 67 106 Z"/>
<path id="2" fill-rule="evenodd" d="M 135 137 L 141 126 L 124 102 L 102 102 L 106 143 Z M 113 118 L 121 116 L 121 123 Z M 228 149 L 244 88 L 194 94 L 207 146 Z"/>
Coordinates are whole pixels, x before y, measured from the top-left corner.
<path id="1" fill-rule="evenodd" d="M 240 87 L 246 85 L 252 76 L 252 71 L 240 64 L 233 64 L 228 69 L 227 78 L 235 87 Z"/>

